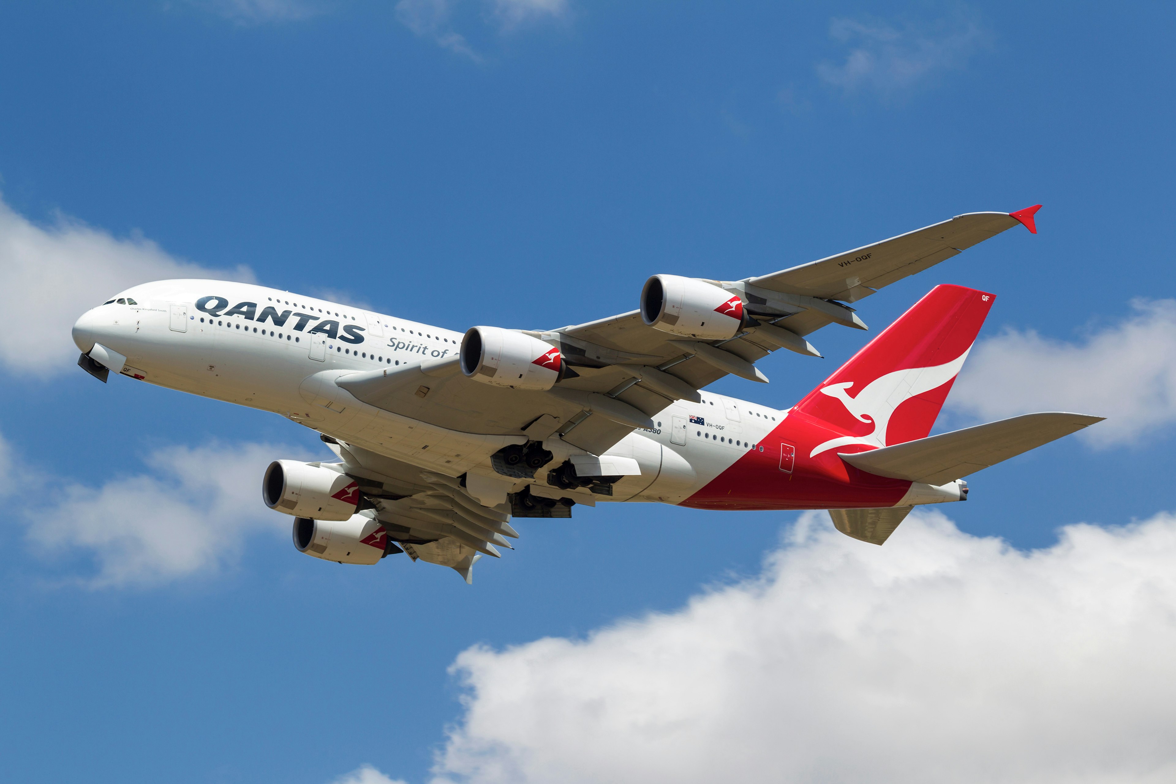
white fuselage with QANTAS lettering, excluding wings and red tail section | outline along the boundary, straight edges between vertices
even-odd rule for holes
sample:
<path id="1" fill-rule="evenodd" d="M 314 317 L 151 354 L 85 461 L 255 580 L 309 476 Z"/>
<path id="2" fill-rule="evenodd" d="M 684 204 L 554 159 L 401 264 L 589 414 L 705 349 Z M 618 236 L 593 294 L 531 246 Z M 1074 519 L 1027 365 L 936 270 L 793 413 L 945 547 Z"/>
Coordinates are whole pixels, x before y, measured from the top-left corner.
<path id="1" fill-rule="evenodd" d="M 209 297 L 213 292 L 218 296 Z M 448 476 L 489 471 L 489 455 L 526 440 L 492 428 L 440 428 L 363 403 L 334 384 L 347 374 L 457 354 L 462 333 L 249 283 L 159 281 L 114 299 L 79 319 L 74 341 L 83 353 L 100 344 L 125 356 L 125 367 L 115 368 L 123 375 L 273 411 Z M 574 497 L 679 503 L 730 468 L 786 414 L 709 393 L 701 403 L 674 402 L 654 416 L 654 429 L 635 431 L 608 451 L 635 458 L 641 476 L 617 482 L 612 497 Z M 704 424 L 688 424 L 691 416 Z M 541 483 L 534 489 L 567 495 Z"/>

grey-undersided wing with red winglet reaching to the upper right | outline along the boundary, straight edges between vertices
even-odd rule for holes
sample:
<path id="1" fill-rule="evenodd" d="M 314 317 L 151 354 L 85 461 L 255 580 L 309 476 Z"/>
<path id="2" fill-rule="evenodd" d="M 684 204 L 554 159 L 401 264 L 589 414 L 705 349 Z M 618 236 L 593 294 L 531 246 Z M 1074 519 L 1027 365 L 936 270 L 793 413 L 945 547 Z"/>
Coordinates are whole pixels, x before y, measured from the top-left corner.
<path id="1" fill-rule="evenodd" d="M 943 261 L 1018 222 L 1030 230 L 1035 207 L 970 213 L 890 240 L 739 281 L 707 281 L 740 296 L 755 326 L 727 341 L 682 341 L 647 326 L 637 310 L 583 324 L 528 331 L 556 346 L 575 369 L 549 391 L 492 387 L 459 373 L 454 357 L 340 378 L 355 397 L 394 414 L 461 433 L 553 434 L 600 455 L 675 400 L 733 373 L 766 381 L 754 363 L 788 348 L 820 356 L 804 336 L 829 323 L 864 329 L 854 302 Z"/>

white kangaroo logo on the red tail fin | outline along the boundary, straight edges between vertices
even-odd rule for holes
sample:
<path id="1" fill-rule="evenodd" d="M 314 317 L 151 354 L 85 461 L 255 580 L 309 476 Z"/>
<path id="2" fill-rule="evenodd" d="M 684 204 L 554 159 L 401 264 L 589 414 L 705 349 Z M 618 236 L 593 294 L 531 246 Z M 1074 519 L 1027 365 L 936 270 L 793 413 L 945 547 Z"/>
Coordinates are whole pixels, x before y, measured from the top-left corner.
<path id="1" fill-rule="evenodd" d="M 866 386 L 856 397 L 846 391 L 854 386 L 853 381 L 842 381 L 821 388 L 821 394 L 836 397 L 858 422 L 873 422 L 874 430 L 864 436 L 841 436 L 818 444 L 809 457 L 816 457 L 823 451 L 846 444 L 866 444 L 867 447 L 886 447 L 886 431 L 890 425 L 890 416 L 903 402 L 942 387 L 951 381 L 968 359 L 969 346 L 963 354 L 929 368 L 908 368 L 878 376 Z"/>

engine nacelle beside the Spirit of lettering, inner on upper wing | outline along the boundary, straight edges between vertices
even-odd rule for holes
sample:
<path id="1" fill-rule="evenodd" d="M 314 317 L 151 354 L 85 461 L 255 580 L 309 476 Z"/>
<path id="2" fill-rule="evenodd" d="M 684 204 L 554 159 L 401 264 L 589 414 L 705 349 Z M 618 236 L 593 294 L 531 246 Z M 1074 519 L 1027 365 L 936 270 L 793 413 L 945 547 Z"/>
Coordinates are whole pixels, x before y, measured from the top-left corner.
<path id="1" fill-rule="evenodd" d="M 563 368 L 560 349 L 510 329 L 470 327 L 461 340 L 461 371 L 485 384 L 546 390 Z"/>

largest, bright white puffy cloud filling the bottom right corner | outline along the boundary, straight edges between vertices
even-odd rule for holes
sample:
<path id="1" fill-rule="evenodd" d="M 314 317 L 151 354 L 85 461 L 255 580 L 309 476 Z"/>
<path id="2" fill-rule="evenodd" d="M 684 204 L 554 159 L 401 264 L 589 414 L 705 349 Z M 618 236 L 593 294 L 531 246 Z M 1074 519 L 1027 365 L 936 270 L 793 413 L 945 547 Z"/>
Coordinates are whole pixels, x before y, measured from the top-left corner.
<path id="1" fill-rule="evenodd" d="M 1023 552 L 809 512 L 679 611 L 461 654 L 436 782 L 1176 780 L 1174 562 L 1167 514 Z"/>

